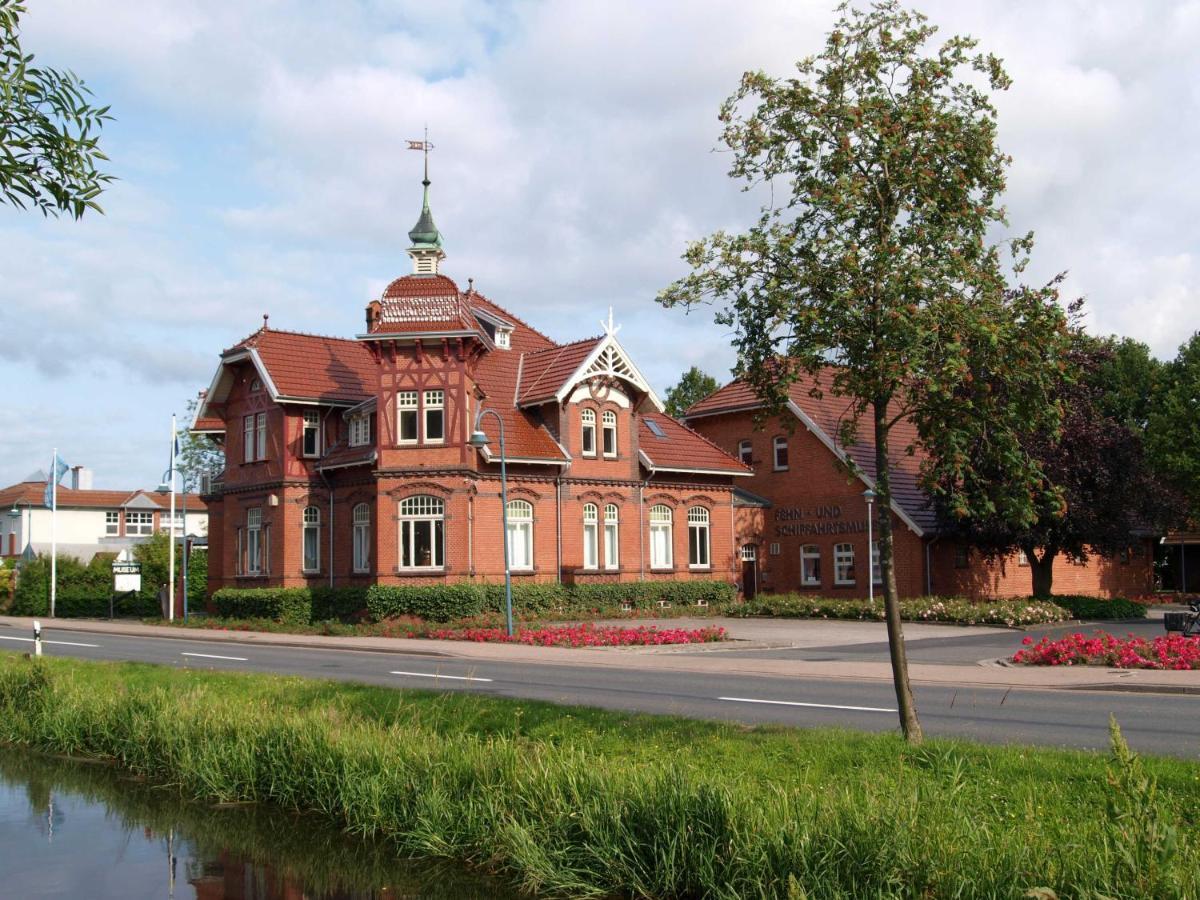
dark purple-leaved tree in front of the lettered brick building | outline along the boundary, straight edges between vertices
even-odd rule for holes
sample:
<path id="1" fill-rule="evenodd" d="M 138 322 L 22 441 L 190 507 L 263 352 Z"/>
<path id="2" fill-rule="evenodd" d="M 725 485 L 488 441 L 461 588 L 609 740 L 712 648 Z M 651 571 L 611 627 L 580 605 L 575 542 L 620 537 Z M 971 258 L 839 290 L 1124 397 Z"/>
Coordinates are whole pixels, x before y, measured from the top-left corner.
<path id="1" fill-rule="evenodd" d="M 1021 434 L 1022 448 L 1052 487 L 1037 494 L 1036 517 L 1020 523 L 982 514 L 958 522 L 960 534 L 986 556 L 1022 551 L 1039 598 L 1052 593 L 1060 556 L 1075 562 L 1092 553 L 1114 556 L 1139 533 L 1169 523 L 1176 508 L 1142 445 L 1138 422 L 1144 421 L 1147 367 L 1138 346 L 1076 331 L 1069 364 L 1057 389 L 1064 408 L 1061 432 L 1026 428 Z"/>

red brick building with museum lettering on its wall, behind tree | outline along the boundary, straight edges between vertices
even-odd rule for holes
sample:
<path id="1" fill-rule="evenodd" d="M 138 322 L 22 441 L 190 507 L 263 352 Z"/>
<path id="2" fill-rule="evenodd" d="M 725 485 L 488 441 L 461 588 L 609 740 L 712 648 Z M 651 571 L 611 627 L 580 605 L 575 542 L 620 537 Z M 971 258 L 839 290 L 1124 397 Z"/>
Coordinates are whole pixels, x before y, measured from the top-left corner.
<path id="1" fill-rule="evenodd" d="M 797 382 L 786 413 L 756 426 L 757 398 L 746 384 L 733 382 L 691 407 L 684 421 L 754 470 L 744 485 L 757 499 L 739 502 L 736 532 L 748 589 L 866 596 L 869 568 L 880 584 L 877 548 L 872 553 L 868 547 L 864 498 L 875 484 L 875 445 L 869 430 L 859 428 L 858 443 L 842 448 L 838 434 L 851 404 L 829 385 L 812 396 L 815 388 L 822 388 L 818 380 Z M 1030 595 L 1032 575 L 1020 556 L 985 560 L 940 534 L 919 486 L 920 458 L 905 452 L 916 432 L 901 421 L 893 437 L 890 515 L 900 595 Z M 848 460 L 862 475 L 850 475 L 842 464 Z M 1060 557 L 1055 593 L 1150 593 L 1152 557 L 1150 539 L 1116 559 L 1092 556 L 1075 564 Z"/>

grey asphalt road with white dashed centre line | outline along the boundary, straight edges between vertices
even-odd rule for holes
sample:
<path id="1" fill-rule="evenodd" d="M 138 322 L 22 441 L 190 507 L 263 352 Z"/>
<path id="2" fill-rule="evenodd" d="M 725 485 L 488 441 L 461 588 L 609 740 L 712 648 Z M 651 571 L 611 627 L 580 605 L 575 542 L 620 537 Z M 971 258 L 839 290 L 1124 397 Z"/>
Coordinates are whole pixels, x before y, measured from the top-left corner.
<path id="1" fill-rule="evenodd" d="M 28 653 L 0 630 L 0 652 Z M 140 660 L 184 668 L 276 672 L 391 688 L 470 691 L 616 710 L 746 724 L 896 728 L 890 684 L 460 660 L 400 653 L 46 631 L 48 655 Z M 991 743 L 1106 749 L 1116 715 L 1135 749 L 1200 760 L 1200 696 L 918 685 L 926 734 Z"/>

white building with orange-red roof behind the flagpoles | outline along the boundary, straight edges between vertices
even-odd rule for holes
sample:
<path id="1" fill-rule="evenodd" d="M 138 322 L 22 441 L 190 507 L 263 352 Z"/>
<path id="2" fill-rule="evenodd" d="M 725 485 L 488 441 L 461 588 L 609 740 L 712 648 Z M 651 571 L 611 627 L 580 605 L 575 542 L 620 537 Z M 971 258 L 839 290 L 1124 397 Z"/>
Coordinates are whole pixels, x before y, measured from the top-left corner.
<path id="1" fill-rule="evenodd" d="M 86 563 L 96 553 L 118 553 L 169 527 L 170 496 L 154 491 L 94 491 L 91 472 L 71 469 L 59 486 L 55 530 L 59 556 Z M 0 490 L 0 558 L 50 552 L 50 510 L 46 481 L 32 479 Z M 175 496 L 175 534 L 185 533 L 185 498 Z M 206 539 L 209 514 L 198 494 L 186 497 L 186 533 Z"/>

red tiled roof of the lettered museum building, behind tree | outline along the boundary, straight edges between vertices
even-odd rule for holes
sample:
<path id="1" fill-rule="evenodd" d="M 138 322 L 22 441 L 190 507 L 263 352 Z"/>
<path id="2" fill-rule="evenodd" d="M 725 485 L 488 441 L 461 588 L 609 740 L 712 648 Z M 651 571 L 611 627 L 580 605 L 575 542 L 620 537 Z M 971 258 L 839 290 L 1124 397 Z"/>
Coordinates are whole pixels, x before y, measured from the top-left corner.
<path id="1" fill-rule="evenodd" d="M 868 422 L 858 428 L 858 440 L 848 448 L 838 442 L 841 424 L 850 419 L 852 402 L 832 389 L 832 372 L 821 376 L 802 374 L 788 388 L 788 410 L 799 419 L 829 450 L 838 456 L 853 460 L 863 473 L 863 481 L 875 485 L 875 437 Z M 812 396 L 817 391 L 821 396 Z M 709 415 L 752 410 L 762 406 L 754 390 L 745 382 L 736 380 L 708 395 L 684 413 L 685 421 L 695 421 Z M 906 448 L 917 440 L 917 428 L 908 419 L 901 419 L 892 428 L 889 454 L 892 462 L 893 510 L 918 534 L 937 530 L 937 516 L 929 498 L 920 488 L 920 464 L 924 455 L 920 448 L 910 456 Z"/>

